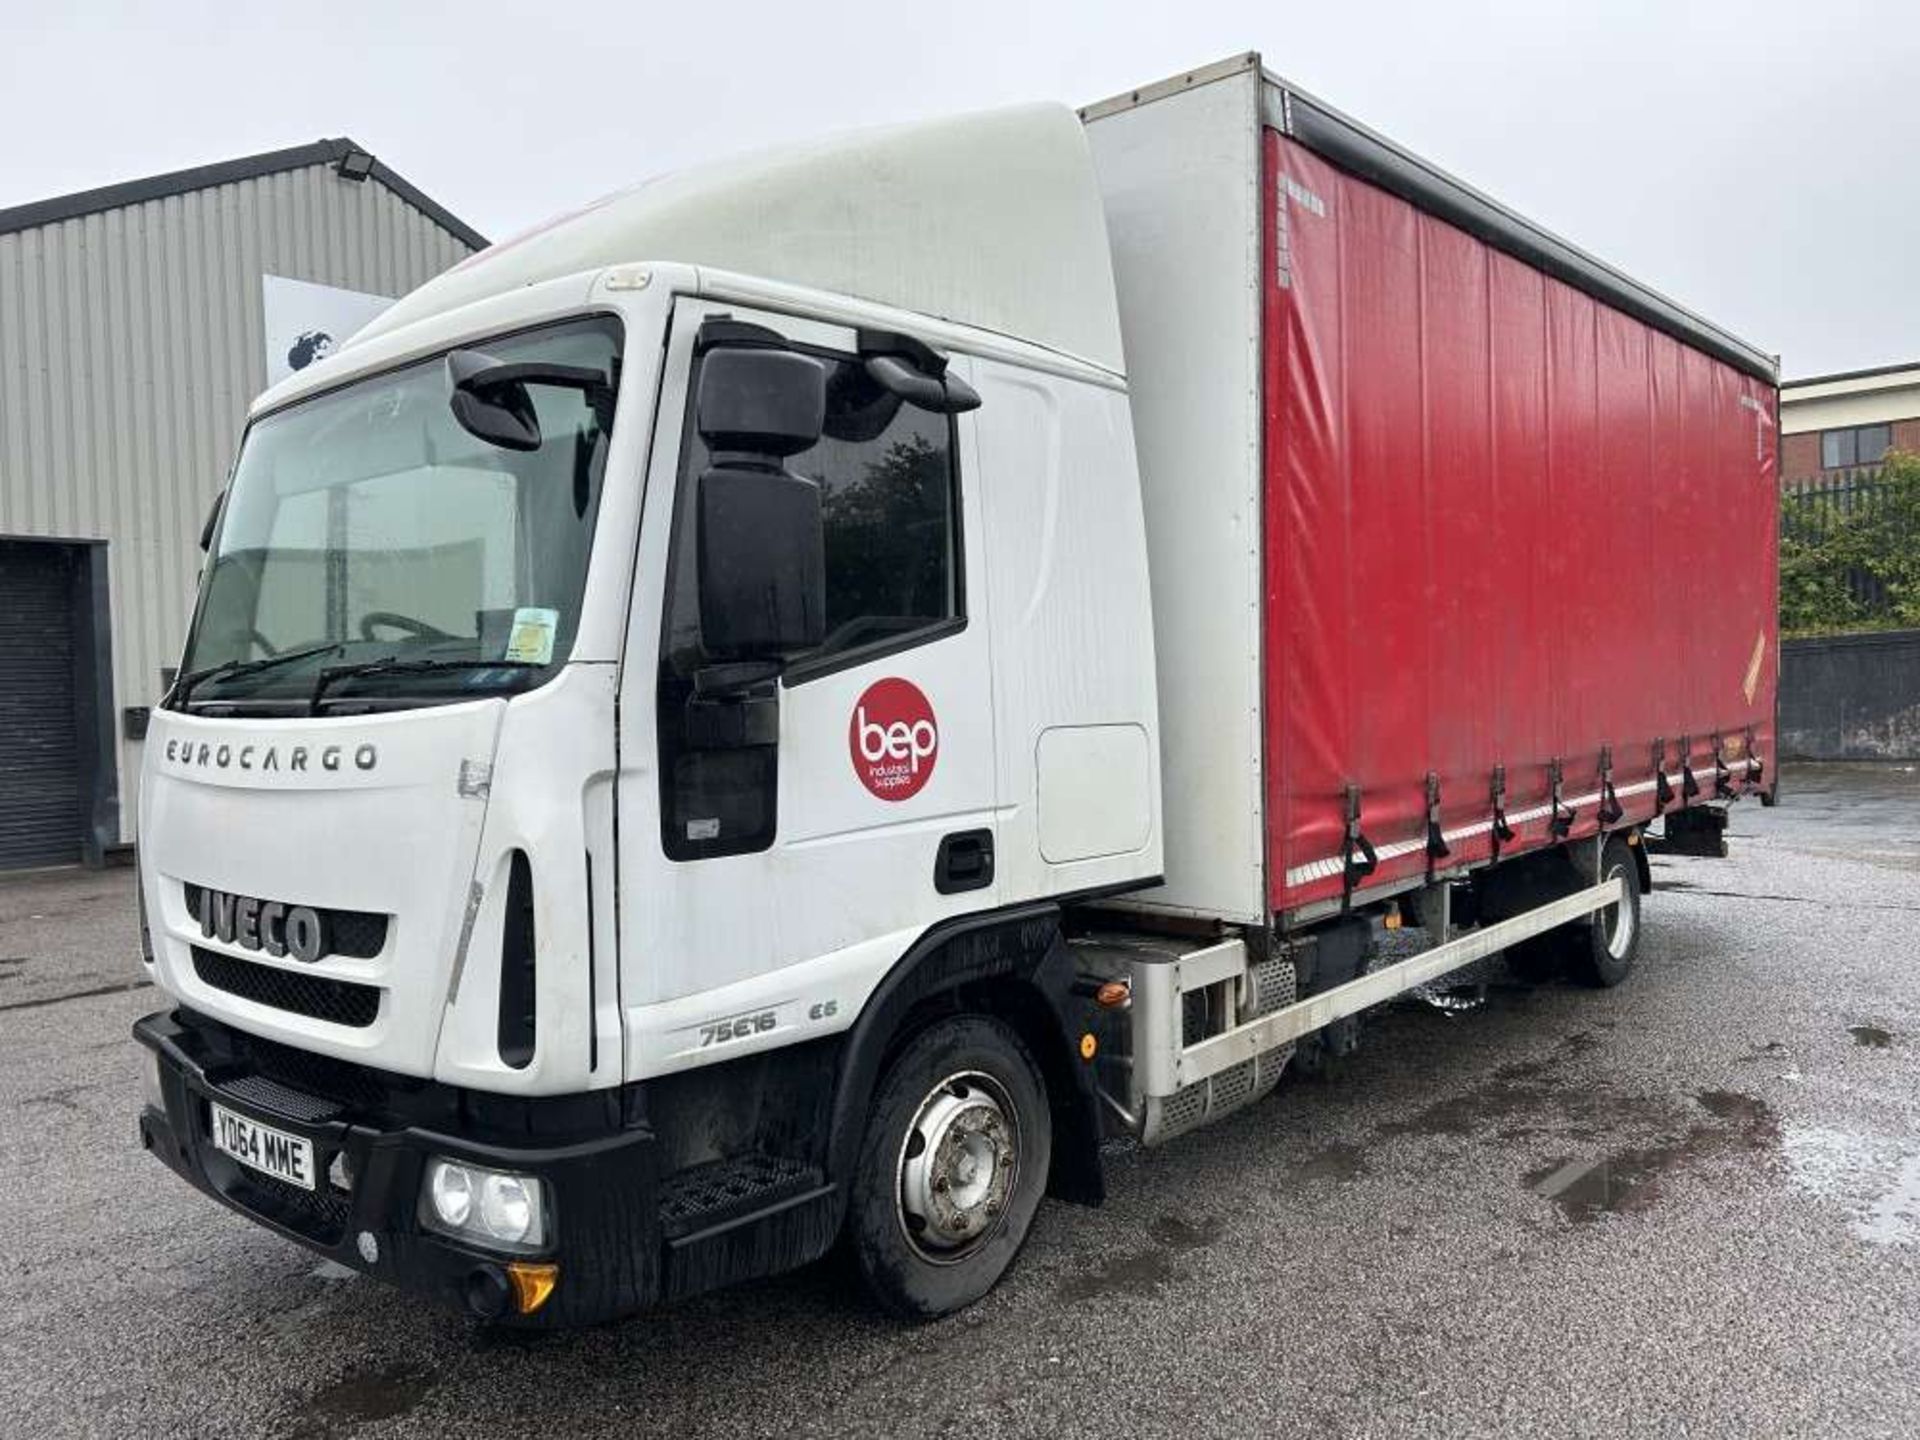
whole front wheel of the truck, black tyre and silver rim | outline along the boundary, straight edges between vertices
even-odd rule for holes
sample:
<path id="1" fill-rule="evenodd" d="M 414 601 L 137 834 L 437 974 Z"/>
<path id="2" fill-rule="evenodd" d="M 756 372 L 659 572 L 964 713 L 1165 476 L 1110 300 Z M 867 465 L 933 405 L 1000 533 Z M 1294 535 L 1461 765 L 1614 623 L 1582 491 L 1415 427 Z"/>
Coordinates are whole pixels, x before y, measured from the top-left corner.
<path id="1" fill-rule="evenodd" d="M 1046 1192 L 1052 1119 L 1027 1046 L 987 1016 L 916 1035 L 874 1094 L 847 1246 L 895 1315 L 950 1315 L 1014 1263 Z"/>

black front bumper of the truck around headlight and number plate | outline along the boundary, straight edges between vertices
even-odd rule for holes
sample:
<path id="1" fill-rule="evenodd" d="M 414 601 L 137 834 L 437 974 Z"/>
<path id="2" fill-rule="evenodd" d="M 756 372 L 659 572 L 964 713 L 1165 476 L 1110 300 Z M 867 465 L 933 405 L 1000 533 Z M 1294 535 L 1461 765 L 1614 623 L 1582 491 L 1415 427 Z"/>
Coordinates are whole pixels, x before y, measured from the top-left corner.
<path id="1" fill-rule="evenodd" d="M 140 1142 L 177 1175 L 290 1240 L 351 1269 L 407 1290 L 422 1292 L 509 1325 L 568 1327 L 643 1309 L 660 1298 L 662 1236 L 659 1175 L 651 1129 L 637 1119 L 603 1127 L 578 1119 L 530 1133 L 530 1112 L 499 1116 L 503 1123 L 461 1119 L 465 1108 L 444 1106 L 440 1123 L 396 1117 L 378 1096 L 359 1102 L 313 1094 L 238 1064 L 217 1035 L 175 1014 L 156 1014 L 134 1025 L 134 1039 L 159 1060 L 163 1110 L 140 1114 Z M 420 1085 L 426 1098 L 447 1098 L 444 1087 Z M 419 1098 L 419 1096 L 415 1096 Z M 215 1148 L 209 1100 L 309 1140 L 315 1150 L 315 1190 L 271 1179 Z M 403 1106 L 401 1106 L 403 1108 Z M 511 1133 L 515 1123 L 520 1133 Z M 346 1156 L 351 1188 L 330 1181 L 336 1156 Z M 547 1185 L 551 1242 L 524 1260 L 555 1261 L 559 1284 L 532 1315 L 511 1302 L 503 1256 L 455 1240 L 419 1223 L 420 1177 L 430 1156 L 470 1160 L 495 1169 L 538 1175 Z"/>

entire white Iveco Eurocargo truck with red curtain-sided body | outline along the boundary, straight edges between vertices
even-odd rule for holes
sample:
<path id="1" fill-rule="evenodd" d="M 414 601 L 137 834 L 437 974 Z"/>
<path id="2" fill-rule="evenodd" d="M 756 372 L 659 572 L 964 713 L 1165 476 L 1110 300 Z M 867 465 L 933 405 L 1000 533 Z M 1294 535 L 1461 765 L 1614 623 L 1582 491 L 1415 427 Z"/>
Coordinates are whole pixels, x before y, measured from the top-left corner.
<path id="1" fill-rule="evenodd" d="M 495 246 L 253 405 L 140 1139 L 503 1323 L 966 1306 L 1367 1006 L 1626 979 L 1776 783 L 1774 380 L 1256 56 Z"/>

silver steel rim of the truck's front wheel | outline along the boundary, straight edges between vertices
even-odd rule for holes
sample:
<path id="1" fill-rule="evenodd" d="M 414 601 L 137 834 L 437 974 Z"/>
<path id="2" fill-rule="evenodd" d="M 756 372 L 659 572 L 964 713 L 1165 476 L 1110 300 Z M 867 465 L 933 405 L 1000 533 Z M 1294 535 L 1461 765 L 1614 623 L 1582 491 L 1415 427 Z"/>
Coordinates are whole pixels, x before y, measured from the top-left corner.
<path id="1" fill-rule="evenodd" d="M 1020 1112 L 1006 1087 L 977 1069 L 948 1075 L 900 1137 L 900 1235 L 922 1260 L 954 1265 L 1000 1231 L 1018 1179 Z"/>

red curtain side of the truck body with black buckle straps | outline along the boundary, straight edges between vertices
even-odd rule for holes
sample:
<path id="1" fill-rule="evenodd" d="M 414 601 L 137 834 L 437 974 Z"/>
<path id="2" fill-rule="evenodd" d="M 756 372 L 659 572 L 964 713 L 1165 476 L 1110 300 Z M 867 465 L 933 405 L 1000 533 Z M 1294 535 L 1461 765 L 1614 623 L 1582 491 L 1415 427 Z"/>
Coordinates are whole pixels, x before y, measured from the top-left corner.
<path id="1" fill-rule="evenodd" d="M 1509 812 L 1653 814 L 1774 762 L 1776 394 L 1267 131 L 1265 745 L 1275 910 L 1344 889 L 1346 795 L 1425 872 Z M 1770 781 L 1770 774 L 1768 774 Z M 1678 803 L 1678 797 L 1676 797 Z M 1597 828 L 1576 806 L 1572 835 Z M 1478 829 L 1475 831 L 1475 826 Z M 1513 852 L 1548 843 L 1515 826 Z M 1411 849 L 1409 849 L 1411 847 Z"/>

